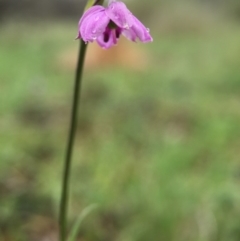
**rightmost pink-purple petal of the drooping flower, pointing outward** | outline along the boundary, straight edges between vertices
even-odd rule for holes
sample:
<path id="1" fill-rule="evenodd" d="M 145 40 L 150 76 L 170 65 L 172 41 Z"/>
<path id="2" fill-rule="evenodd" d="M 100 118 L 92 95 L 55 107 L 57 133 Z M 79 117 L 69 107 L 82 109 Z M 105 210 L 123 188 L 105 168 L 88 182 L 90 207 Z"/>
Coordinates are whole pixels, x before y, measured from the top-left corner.
<path id="1" fill-rule="evenodd" d="M 124 30 L 123 35 L 131 41 L 136 41 L 136 38 L 143 43 L 151 42 L 153 39 L 147 29 L 136 17 L 133 16 L 134 24 L 129 30 Z"/>

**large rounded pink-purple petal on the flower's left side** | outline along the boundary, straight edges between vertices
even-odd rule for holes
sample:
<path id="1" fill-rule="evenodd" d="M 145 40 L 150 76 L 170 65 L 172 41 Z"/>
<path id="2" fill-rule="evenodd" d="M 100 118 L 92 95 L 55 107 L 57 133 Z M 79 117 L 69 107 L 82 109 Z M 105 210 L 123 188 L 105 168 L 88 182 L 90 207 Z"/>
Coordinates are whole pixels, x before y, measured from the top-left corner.
<path id="1" fill-rule="evenodd" d="M 79 36 L 86 42 L 93 42 L 105 31 L 109 21 L 104 7 L 93 6 L 79 21 Z"/>

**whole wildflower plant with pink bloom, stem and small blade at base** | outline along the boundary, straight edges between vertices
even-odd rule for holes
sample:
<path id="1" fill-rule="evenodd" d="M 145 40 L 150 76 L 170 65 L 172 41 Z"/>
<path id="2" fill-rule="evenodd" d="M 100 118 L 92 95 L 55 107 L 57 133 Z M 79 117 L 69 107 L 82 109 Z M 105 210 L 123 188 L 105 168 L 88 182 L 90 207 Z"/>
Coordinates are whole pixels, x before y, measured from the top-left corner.
<path id="1" fill-rule="evenodd" d="M 153 39 L 146 28 L 120 0 L 109 0 L 108 6 L 103 6 L 104 0 L 88 0 L 85 12 L 78 23 L 80 48 L 75 75 L 74 94 L 71 111 L 71 122 L 64 161 L 61 202 L 59 210 L 59 240 L 76 240 L 81 221 L 94 206 L 85 209 L 67 236 L 67 210 L 69 197 L 69 178 L 73 152 L 74 137 L 77 124 L 77 111 L 80 97 L 81 80 L 87 44 L 96 41 L 104 49 L 118 43 L 121 35 L 130 41 L 146 43 Z"/>

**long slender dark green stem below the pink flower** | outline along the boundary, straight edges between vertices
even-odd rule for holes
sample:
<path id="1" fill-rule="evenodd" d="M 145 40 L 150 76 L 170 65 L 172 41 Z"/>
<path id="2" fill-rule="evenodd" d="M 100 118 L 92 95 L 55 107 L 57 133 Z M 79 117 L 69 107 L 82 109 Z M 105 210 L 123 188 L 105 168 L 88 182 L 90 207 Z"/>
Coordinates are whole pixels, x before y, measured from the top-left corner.
<path id="1" fill-rule="evenodd" d="M 87 45 L 80 40 L 78 63 L 75 75 L 74 95 L 72 102 L 71 123 L 69 129 L 69 136 L 67 142 L 66 156 L 64 162 L 64 172 L 62 181 L 62 194 L 59 213 L 59 240 L 66 241 L 67 238 L 67 211 L 68 211 L 68 199 L 69 199 L 69 179 L 72 160 L 72 150 L 74 144 L 74 137 L 77 127 L 77 115 L 78 115 L 78 103 L 81 91 L 81 80 L 84 65 L 84 58 Z"/>

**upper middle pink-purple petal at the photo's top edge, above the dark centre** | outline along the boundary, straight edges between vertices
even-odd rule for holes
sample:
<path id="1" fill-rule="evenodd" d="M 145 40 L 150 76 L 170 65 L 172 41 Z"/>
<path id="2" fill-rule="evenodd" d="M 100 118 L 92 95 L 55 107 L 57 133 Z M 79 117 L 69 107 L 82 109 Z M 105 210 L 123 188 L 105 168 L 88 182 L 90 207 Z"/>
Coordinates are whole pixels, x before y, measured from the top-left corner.
<path id="1" fill-rule="evenodd" d="M 122 2 L 110 2 L 106 14 L 120 28 L 129 29 L 133 25 L 132 13 Z"/>

